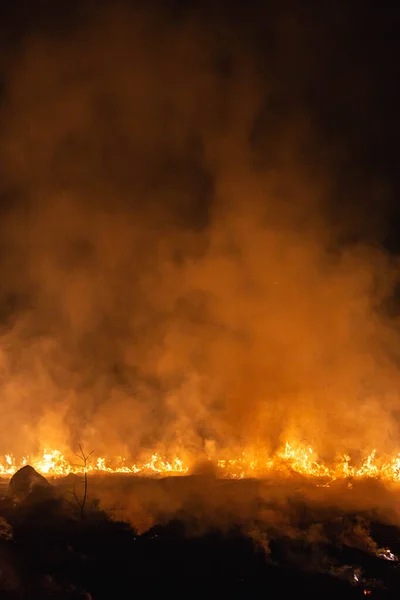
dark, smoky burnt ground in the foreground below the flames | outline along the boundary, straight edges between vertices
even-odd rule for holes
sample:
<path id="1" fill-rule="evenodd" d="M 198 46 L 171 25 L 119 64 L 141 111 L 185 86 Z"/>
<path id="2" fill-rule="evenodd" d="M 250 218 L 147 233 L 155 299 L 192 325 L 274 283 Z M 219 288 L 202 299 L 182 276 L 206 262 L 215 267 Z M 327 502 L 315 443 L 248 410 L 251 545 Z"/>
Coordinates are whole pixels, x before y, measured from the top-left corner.
<path id="1" fill-rule="evenodd" d="M 389 524 L 394 513 L 389 519 L 383 490 L 387 518 L 365 502 L 358 510 L 353 501 L 340 505 L 336 492 L 329 492 L 328 501 L 325 490 L 309 494 L 295 487 L 283 496 L 282 488 L 274 495 L 275 488 L 259 483 L 201 477 L 93 480 L 96 496 L 107 488 L 107 512 L 92 496 L 82 519 L 73 495 L 67 499 L 70 485 L 17 503 L 2 498 L 0 598 L 118 599 L 159 592 L 175 598 L 400 596 L 400 530 Z M 114 510 L 112 488 L 122 489 Z M 362 489 L 360 497 L 366 495 L 376 503 L 375 488 Z M 183 498 L 173 513 L 172 496 Z M 216 504 L 210 504 L 213 496 L 219 497 Z M 142 498 L 126 513 L 131 524 L 116 520 L 123 497 Z M 139 534 L 134 515 L 143 528 L 144 505 L 153 524 Z"/>

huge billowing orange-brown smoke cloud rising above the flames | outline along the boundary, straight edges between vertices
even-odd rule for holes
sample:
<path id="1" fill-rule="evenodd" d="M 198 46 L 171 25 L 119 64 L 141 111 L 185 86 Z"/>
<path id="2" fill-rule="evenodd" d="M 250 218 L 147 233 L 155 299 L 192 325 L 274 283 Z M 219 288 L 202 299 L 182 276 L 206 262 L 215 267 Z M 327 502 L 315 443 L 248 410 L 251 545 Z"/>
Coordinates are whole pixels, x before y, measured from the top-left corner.
<path id="1" fill-rule="evenodd" d="M 341 196 L 342 147 L 304 92 L 319 37 L 277 18 L 262 63 L 239 27 L 125 8 L 19 43 L 0 451 L 398 450 L 386 186 L 365 175 Z"/>

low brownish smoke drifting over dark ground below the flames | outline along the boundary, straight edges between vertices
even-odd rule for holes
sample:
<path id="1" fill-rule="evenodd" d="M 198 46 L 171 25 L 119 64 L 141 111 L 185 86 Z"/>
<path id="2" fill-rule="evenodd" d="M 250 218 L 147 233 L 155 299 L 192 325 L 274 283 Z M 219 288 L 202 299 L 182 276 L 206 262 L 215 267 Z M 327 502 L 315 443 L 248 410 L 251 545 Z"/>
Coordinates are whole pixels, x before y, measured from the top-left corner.
<path id="1" fill-rule="evenodd" d="M 272 551 L 275 560 L 282 543 L 289 563 L 337 575 L 338 546 L 379 557 L 385 530 L 399 523 L 398 491 L 376 481 L 350 489 L 343 482 L 317 488 L 302 478 L 267 482 L 116 476 L 93 477 L 90 491 L 108 515 L 129 522 L 139 534 L 157 535 L 159 526 L 171 523 L 180 523 L 187 536 L 241 533 L 267 556 Z"/>

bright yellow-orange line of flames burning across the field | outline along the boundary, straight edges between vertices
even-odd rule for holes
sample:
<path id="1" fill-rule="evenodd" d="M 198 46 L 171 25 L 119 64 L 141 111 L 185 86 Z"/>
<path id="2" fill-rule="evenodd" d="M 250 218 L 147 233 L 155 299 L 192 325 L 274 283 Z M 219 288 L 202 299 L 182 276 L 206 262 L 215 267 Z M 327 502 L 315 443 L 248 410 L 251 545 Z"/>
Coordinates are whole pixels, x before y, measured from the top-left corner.
<path id="1" fill-rule="evenodd" d="M 210 459 L 211 460 L 211 459 Z M 351 457 L 344 455 L 334 464 L 324 464 L 318 460 L 309 446 L 286 442 L 274 455 L 260 451 L 243 451 L 240 456 L 221 457 L 213 461 L 221 477 L 243 479 L 248 477 L 290 476 L 298 474 L 314 479 L 318 484 L 329 485 L 334 480 L 375 478 L 393 483 L 400 482 L 400 453 L 392 457 L 379 457 L 373 450 L 355 465 Z M 25 456 L 17 460 L 11 454 L 4 455 L 0 461 L 0 475 L 12 476 L 22 466 L 30 464 L 39 473 L 52 477 L 66 476 L 70 473 L 82 473 L 82 461 L 70 460 L 61 451 L 45 449 L 39 456 Z M 151 453 L 147 459 L 129 462 L 124 457 L 108 459 L 97 457 L 87 464 L 88 473 L 126 473 L 142 476 L 185 475 L 191 471 L 192 464 L 179 456 L 165 457 L 158 452 Z"/>

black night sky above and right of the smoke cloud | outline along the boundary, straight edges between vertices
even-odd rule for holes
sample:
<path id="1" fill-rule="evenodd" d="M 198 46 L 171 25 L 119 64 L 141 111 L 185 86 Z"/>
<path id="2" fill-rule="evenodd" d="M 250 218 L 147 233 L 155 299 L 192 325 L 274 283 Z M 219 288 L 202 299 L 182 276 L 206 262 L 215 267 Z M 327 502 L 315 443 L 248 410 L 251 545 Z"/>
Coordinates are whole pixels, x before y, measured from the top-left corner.
<path id="1" fill-rule="evenodd" d="M 68 39 L 107 13 L 111 5 L 118 3 L 21 0 L 5 4 L 0 63 L 3 98 L 10 65 L 27 40 L 38 36 Z M 395 3 L 385 8 L 373 2 L 344 1 L 316 5 L 170 0 L 119 5 L 139 11 L 150 8 L 171 27 L 188 21 L 209 28 L 210 36 L 219 38 L 215 68 L 222 87 L 235 69 L 232 47 L 250 57 L 257 77 L 268 88 L 251 132 L 260 168 L 272 167 L 270 139 L 285 122 L 301 117 L 310 126 L 309 139 L 307 135 L 302 139 L 305 162 L 309 163 L 307 152 L 312 153 L 317 137 L 323 168 L 332 166 L 333 220 L 346 223 L 350 219 L 350 239 L 378 236 L 392 251 L 400 249 L 400 42 Z M 315 153 L 313 162 L 318 171 Z M 194 202 L 195 215 L 196 203 L 206 201 L 203 197 L 210 184 L 204 182 L 204 193 Z M 365 194 L 360 194 L 361 187 Z M 4 202 L 8 196 L 4 191 Z"/>

